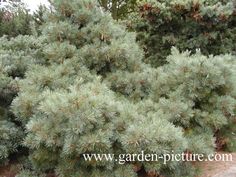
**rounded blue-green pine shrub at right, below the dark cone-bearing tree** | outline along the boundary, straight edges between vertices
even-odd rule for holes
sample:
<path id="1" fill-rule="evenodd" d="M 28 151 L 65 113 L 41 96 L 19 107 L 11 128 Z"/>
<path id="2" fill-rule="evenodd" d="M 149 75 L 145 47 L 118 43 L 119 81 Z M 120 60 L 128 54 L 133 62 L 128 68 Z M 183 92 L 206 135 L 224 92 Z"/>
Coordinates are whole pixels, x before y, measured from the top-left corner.
<path id="1" fill-rule="evenodd" d="M 173 48 L 168 63 L 158 68 L 151 98 L 183 128 L 191 152 L 212 153 L 216 132 L 235 126 L 235 61 L 233 55 L 206 57 Z"/>

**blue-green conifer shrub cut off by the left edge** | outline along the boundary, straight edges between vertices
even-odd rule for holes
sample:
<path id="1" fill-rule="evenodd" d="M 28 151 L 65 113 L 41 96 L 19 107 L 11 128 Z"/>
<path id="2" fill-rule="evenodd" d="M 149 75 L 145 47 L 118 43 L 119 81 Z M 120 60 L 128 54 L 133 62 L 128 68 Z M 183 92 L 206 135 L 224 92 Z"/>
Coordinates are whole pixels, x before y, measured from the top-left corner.
<path id="1" fill-rule="evenodd" d="M 40 38 L 18 36 L 0 38 L 0 161 L 17 151 L 23 138 L 23 127 L 10 105 L 18 93 L 18 81 L 24 77 L 27 68 L 36 62 Z"/>

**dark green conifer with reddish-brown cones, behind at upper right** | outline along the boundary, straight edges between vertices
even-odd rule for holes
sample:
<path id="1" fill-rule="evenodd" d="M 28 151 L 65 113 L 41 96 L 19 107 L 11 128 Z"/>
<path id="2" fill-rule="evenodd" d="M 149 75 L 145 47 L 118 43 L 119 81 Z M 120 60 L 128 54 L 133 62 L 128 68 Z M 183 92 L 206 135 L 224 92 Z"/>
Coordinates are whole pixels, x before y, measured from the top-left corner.
<path id="1" fill-rule="evenodd" d="M 140 5 L 134 28 L 145 50 L 145 62 L 160 66 L 171 47 L 204 55 L 236 51 L 233 0 L 148 0 Z"/>

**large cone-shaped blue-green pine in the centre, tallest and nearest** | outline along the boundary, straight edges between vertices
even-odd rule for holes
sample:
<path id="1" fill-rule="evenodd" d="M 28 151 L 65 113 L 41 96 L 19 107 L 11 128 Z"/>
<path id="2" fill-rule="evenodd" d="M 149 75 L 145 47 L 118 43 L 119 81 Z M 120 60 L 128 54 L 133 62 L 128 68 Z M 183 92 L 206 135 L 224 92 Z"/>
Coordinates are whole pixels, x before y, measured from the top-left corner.
<path id="1" fill-rule="evenodd" d="M 55 169 L 59 176 L 131 177 L 137 176 L 133 163 L 88 162 L 83 154 L 183 152 L 187 142 L 181 128 L 130 101 L 148 97 L 141 92 L 148 86 L 141 84 L 152 70 L 142 63 L 135 35 L 96 1 L 55 1 L 54 7 L 42 26 L 46 43 L 38 53 L 39 64 L 28 67 L 12 104 L 26 127 L 24 145 L 33 168 Z M 138 72 L 140 78 L 132 81 Z M 121 74 L 126 83 L 139 85 L 116 87 L 122 81 L 112 77 Z"/>

